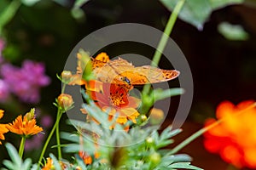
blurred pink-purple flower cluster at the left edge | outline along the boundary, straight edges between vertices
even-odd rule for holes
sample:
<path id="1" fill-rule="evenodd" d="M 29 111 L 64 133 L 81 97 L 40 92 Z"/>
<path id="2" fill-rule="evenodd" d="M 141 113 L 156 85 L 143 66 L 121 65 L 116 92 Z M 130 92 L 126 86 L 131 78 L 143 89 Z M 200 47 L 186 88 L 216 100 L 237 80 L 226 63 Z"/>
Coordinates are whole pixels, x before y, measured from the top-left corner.
<path id="1" fill-rule="evenodd" d="M 38 103 L 40 88 L 49 85 L 50 79 L 44 74 L 44 64 L 25 60 L 22 67 L 5 64 L 1 68 L 3 81 L 9 90 L 26 103 Z"/>

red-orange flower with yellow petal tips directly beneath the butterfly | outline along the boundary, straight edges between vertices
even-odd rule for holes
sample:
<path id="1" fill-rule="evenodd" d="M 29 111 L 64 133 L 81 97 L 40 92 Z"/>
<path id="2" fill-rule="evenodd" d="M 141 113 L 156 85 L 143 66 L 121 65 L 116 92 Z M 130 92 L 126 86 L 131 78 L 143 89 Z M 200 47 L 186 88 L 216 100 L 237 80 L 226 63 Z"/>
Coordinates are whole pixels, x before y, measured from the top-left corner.
<path id="1" fill-rule="evenodd" d="M 116 122 L 120 124 L 125 124 L 128 120 L 137 123 L 136 118 L 139 113 L 136 108 L 140 104 L 140 99 L 129 96 L 124 86 L 95 80 L 90 81 L 88 85 L 85 84 L 86 92 L 102 111 L 108 111 L 110 120 L 116 117 Z"/>

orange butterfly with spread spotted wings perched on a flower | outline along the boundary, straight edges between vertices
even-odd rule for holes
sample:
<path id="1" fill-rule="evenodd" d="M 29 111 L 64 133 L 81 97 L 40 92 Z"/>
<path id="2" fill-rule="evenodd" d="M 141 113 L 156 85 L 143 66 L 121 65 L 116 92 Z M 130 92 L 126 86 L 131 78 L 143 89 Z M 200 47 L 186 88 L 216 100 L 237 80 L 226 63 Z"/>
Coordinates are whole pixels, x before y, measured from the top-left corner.
<path id="1" fill-rule="evenodd" d="M 91 58 L 96 80 L 113 84 L 143 85 L 167 82 L 179 75 L 177 70 L 162 70 L 150 65 L 134 66 L 125 59 L 110 60 L 108 54 L 101 53 Z"/>

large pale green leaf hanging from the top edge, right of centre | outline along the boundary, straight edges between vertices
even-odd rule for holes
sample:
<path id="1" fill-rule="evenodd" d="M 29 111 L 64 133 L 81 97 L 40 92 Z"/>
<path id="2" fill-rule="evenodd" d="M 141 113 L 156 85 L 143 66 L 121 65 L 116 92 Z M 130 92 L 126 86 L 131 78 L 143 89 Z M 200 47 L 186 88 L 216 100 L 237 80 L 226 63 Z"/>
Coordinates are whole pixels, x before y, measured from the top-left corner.
<path id="1" fill-rule="evenodd" d="M 179 0 L 160 0 L 170 11 L 173 10 L 177 1 Z M 202 30 L 213 10 L 242 2 L 243 0 L 186 0 L 178 18 Z"/>

